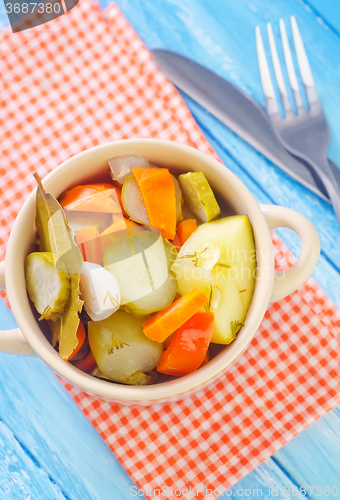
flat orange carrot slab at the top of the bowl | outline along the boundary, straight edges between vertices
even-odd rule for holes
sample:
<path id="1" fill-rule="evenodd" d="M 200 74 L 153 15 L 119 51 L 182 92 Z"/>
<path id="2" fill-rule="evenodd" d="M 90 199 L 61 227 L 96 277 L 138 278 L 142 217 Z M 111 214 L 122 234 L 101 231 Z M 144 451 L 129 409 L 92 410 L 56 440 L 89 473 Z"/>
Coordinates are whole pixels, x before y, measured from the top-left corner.
<path id="1" fill-rule="evenodd" d="M 175 183 L 167 168 L 133 168 L 133 175 L 145 204 L 152 227 L 164 238 L 176 234 Z"/>

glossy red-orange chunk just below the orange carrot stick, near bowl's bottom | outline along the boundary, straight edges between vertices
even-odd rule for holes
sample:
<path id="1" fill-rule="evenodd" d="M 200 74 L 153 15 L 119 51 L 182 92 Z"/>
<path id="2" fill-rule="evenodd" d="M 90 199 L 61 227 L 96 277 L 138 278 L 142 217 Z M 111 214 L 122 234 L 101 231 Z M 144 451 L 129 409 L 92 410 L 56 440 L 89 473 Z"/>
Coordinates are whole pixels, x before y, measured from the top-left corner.
<path id="1" fill-rule="evenodd" d="M 207 353 L 214 329 L 214 314 L 198 312 L 175 333 L 163 352 L 157 370 L 180 377 L 199 368 Z"/>

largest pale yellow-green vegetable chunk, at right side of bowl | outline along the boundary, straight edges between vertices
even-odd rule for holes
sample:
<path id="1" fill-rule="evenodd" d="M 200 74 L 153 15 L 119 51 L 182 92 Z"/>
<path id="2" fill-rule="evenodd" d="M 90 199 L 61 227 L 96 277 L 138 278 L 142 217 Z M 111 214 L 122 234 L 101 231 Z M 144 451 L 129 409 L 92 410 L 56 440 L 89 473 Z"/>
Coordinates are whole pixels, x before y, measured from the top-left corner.
<path id="1" fill-rule="evenodd" d="M 246 316 L 255 285 L 255 244 L 246 215 L 208 222 L 184 243 L 172 266 L 181 295 L 199 288 L 215 313 L 212 342 L 229 344 Z"/>

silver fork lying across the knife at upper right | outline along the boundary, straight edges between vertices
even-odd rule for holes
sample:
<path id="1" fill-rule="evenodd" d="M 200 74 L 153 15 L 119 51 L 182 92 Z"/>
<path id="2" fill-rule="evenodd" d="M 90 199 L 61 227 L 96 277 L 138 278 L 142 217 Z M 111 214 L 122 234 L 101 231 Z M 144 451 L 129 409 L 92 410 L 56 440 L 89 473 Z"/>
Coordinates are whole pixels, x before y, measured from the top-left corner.
<path id="1" fill-rule="evenodd" d="M 329 129 L 315 89 L 307 54 L 294 16 L 291 17 L 291 25 L 298 67 L 310 109 L 308 111 L 302 101 L 286 28 L 282 19 L 280 19 L 281 41 L 297 114 L 294 113 L 288 97 L 270 23 L 267 24 L 269 47 L 285 118 L 282 118 L 280 114 L 263 46 L 261 31 L 257 26 L 257 58 L 266 108 L 273 131 L 281 144 L 291 154 L 306 162 L 325 186 L 340 225 L 340 190 L 327 161 L 327 148 L 330 139 Z"/>

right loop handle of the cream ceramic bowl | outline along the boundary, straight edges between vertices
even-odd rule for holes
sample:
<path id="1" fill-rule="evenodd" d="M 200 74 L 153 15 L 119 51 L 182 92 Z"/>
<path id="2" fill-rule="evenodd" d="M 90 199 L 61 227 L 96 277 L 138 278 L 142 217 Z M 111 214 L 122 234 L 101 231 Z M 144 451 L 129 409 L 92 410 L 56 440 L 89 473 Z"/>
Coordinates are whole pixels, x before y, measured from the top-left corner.
<path id="1" fill-rule="evenodd" d="M 294 292 L 311 275 L 320 255 L 319 235 L 307 217 L 290 208 L 261 205 L 269 229 L 287 227 L 300 237 L 301 255 L 288 271 L 275 271 L 270 302 L 276 302 Z"/>

